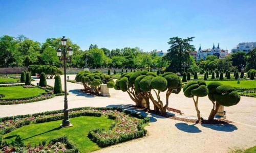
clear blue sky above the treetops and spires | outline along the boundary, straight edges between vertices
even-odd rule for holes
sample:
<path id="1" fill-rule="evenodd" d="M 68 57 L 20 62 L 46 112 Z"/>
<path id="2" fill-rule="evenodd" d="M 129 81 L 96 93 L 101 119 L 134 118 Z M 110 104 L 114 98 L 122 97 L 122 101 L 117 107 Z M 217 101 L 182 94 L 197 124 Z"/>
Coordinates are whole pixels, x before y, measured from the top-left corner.
<path id="1" fill-rule="evenodd" d="M 256 41 L 252 1 L 5 1 L 0 0 L 0 36 L 24 34 L 44 42 L 66 36 L 83 50 L 167 50 L 171 37 L 192 37 L 198 49 L 213 43 L 228 49 Z"/>

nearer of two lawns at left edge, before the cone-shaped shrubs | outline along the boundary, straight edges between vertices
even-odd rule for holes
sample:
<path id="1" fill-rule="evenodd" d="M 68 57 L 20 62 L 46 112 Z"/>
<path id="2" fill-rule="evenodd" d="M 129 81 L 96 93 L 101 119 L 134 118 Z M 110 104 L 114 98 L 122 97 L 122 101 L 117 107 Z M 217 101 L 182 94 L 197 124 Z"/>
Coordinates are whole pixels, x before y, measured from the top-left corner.
<path id="1" fill-rule="evenodd" d="M 0 93 L 5 95 L 3 99 L 32 97 L 45 92 L 43 89 L 22 86 L 0 87 Z"/>

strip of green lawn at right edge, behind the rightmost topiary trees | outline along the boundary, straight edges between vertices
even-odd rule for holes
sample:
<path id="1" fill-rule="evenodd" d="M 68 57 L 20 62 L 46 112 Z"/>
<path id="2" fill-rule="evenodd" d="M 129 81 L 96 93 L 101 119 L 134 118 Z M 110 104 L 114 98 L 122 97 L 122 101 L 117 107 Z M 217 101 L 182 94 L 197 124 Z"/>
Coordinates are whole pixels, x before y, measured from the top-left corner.
<path id="1" fill-rule="evenodd" d="M 206 81 L 206 84 L 209 84 L 212 81 Z M 240 88 L 256 88 L 256 80 L 241 80 L 240 84 L 237 84 L 238 81 L 218 81 L 224 85 L 230 85 L 232 87 Z"/>

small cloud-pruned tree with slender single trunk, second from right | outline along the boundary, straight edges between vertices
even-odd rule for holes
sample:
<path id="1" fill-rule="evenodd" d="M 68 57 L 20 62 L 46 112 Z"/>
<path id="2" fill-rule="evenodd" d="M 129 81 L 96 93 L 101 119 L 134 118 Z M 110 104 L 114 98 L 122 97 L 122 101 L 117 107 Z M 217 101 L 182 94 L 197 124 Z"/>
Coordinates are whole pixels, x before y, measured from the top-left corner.
<path id="1" fill-rule="evenodd" d="M 184 95 L 188 98 L 193 98 L 195 108 L 197 111 L 197 118 L 200 120 L 200 111 L 198 109 L 198 99 L 199 97 L 204 97 L 208 95 L 208 89 L 204 81 L 193 81 L 186 84 L 183 88 Z M 196 99 L 195 99 L 196 96 Z"/>

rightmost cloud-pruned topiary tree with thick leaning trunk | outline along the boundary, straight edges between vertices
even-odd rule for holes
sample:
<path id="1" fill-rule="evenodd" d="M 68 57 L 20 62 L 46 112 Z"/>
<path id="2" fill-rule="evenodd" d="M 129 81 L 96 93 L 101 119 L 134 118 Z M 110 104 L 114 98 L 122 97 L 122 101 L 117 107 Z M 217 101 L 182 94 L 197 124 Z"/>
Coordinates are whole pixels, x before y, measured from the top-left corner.
<path id="1" fill-rule="evenodd" d="M 241 99 L 239 93 L 229 85 L 211 82 L 207 88 L 209 90 L 208 98 L 213 105 L 208 120 L 214 119 L 221 105 L 226 107 L 237 105 Z"/>

